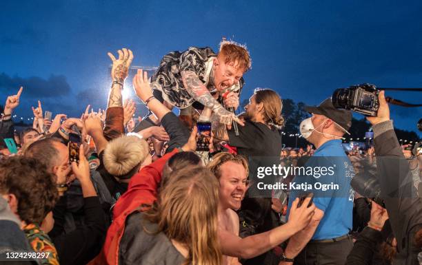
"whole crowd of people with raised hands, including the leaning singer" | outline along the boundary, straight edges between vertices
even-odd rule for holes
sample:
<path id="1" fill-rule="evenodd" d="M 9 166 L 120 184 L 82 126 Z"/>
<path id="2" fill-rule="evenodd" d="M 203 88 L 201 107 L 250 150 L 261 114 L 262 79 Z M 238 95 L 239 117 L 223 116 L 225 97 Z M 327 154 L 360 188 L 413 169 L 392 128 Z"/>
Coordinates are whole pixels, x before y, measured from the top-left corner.
<path id="1" fill-rule="evenodd" d="M 163 56 L 153 76 L 138 70 L 132 85 L 149 109 L 138 122 L 135 99 L 122 97 L 132 51 L 108 56 L 103 110 L 51 119 L 38 101 L 33 126 L 17 133 L 12 114 L 25 107 L 25 88 L 6 97 L 0 263 L 422 264 L 422 156 L 399 145 L 383 92 L 367 118 L 368 149 L 345 151 L 352 113 L 329 98 L 305 108 L 311 116 L 299 128 L 309 145 L 289 148 L 274 90 L 256 89 L 234 112 L 251 67 L 246 47 L 190 47 Z M 208 147 L 198 151 L 204 123 Z M 275 165 L 292 171 L 257 175 Z M 293 170 L 301 166 L 332 173 Z M 288 188 L 261 191 L 259 182 Z M 294 188 L 316 183 L 340 189 Z"/>

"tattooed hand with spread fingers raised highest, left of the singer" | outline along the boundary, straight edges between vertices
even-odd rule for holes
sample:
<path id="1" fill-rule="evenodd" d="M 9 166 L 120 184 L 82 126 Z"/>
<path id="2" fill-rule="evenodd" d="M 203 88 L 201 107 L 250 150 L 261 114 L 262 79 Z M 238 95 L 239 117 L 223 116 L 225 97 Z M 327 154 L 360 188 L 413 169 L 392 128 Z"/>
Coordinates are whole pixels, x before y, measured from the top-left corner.
<path id="1" fill-rule="evenodd" d="M 128 77 L 129 74 L 129 67 L 133 60 L 133 54 L 131 50 L 123 48 L 118 50 L 117 53 L 119 54 L 119 59 L 116 59 L 111 52 L 108 52 L 108 56 L 112 60 L 112 81 L 116 81 L 123 85 L 125 78 Z"/>

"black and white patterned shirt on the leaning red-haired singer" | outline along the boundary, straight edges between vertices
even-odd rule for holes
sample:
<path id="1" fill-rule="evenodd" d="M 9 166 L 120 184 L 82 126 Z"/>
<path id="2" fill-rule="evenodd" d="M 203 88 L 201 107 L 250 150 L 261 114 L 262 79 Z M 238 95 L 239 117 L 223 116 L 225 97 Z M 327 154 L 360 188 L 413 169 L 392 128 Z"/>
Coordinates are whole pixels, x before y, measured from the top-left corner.
<path id="1" fill-rule="evenodd" d="M 195 99 L 185 89 L 181 77 L 182 71 L 193 71 L 206 87 L 214 87 L 209 84 L 212 71 L 212 61 L 217 56 L 210 47 L 189 47 L 184 52 L 170 52 L 165 54 L 157 71 L 151 78 L 151 86 L 163 93 L 163 98 L 168 103 L 184 109 L 194 103 Z M 243 78 L 239 83 L 232 85 L 228 90 L 239 92 L 243 87 Z M 211 88 L 212 89 L 212 88 Z"/>

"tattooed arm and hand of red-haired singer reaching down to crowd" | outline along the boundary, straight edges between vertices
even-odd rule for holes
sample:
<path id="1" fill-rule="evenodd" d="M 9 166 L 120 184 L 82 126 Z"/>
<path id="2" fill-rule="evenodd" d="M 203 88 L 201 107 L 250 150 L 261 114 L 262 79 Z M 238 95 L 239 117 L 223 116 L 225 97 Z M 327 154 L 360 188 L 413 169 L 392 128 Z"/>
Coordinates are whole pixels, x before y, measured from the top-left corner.
<path id="1" fill-rule="evenodd" d="M 219 122 L 230 125 L 232 120 L 235 120 L 237 123 L 241 123 L 241 121 L 232 113 L 225 109 L 221 104 L 212 97 L 210 92 L 208 91 L 207 87 L 199 80 L 197 74 L 193 71 L 182 71 L 181 72 L 183 85 L 185 85 L 185 89 L 188 91 L 190 96 L 195 100 L 199 101 L 205 107 L 209 107 L 212 109 L 214 114 L 219 116 Z"/>

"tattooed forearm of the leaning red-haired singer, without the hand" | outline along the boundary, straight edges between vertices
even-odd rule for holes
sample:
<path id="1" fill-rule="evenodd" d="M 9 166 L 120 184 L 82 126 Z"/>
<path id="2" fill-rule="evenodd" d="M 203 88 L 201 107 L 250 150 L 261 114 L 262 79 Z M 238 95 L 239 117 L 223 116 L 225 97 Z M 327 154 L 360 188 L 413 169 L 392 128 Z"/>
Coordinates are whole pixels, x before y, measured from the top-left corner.
<path id="1" fill-rule="evenodd" d="M 181 72 L 183 85 L 188 91 L 190 96 L 195 100 L 199 101 L 205 107 L 210 109 L 215 109 L 215 107 L 220 106 L 220 103 L 212 97 L 207 87 L 199 80 L 197 74 L 193 71 L 183 71 Z"/>

